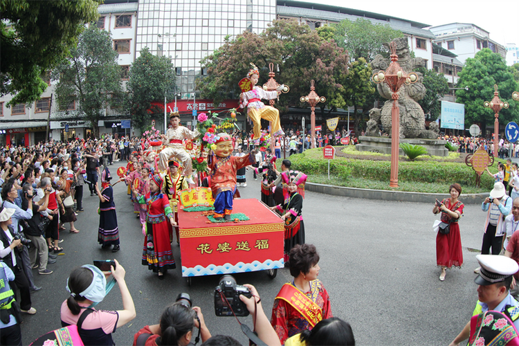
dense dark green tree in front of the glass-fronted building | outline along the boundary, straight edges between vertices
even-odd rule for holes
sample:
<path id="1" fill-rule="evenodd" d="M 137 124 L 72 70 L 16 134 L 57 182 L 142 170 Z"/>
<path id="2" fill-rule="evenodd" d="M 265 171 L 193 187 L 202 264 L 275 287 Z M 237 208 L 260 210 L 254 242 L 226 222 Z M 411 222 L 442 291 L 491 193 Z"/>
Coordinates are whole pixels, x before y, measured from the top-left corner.
<path id="1" fill-rule="evenodd" d="M 134 127 L 143 129 L 149 124 L 150 113 L 159 111 L 152 107 L 153 101 L 169 99 L 174 91 L 176 75 L 171 59 L 149 53 L 147 47 L 130 66 L 127 89 L 127 111 L 131 114 Z M 164 111 L 163 107 L 160 111 Z"/>

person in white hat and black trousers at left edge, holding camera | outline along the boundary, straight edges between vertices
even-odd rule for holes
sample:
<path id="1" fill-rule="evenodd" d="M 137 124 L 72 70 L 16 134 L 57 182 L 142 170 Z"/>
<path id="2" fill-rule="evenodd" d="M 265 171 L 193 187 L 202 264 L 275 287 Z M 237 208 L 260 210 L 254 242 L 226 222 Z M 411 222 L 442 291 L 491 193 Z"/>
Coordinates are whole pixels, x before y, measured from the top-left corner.
<path id="1" fill-rule="evenodd" d="M 12 208 L 0 208 L 0 258 L 3 260 L 10 270 L 15 273 L 15 280 L 10 281 L 10 287 L 15 293 L 15 300 L 17 300 L 16 290 L 20 290 L 20 309 L 31 315 L 36 313 L 36 309 L 31 307 L 30 301 L 30 286 L 21 264 L 20 249 L 22 248 L 19 236 L 15 235 L 14 228 L 12 228 L 12 216 L 15 215 L 15 210 Z"/>

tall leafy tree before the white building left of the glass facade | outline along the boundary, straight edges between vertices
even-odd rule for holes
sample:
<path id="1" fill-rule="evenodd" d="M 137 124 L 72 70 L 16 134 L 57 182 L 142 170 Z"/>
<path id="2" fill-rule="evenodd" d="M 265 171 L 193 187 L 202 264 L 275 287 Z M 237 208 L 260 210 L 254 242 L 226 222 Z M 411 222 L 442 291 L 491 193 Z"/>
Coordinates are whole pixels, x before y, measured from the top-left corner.
<path id="1" fill-rule="evenodd" d="M 118 57 L 110 34 L 90 26 L 80 35 L 78 45 L 71 48 L 69 57 L 52 73 L 53 80 L 59 81 L 56 95 L 60 109 L 78 102 L 78 109 L 91 122 L 95 136 L 99 134 L 98 121 L 107 109 L 122 107 Z"/>

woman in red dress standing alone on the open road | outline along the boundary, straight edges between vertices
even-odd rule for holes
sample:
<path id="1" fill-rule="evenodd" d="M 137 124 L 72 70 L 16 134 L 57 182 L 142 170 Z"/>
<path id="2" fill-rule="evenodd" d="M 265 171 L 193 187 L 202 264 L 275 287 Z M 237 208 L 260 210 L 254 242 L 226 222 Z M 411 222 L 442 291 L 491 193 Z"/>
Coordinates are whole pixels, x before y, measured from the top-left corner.
<path id="1" fill-rule="evenodd" d="M 436 236 L 436 262 L 441 268 L 439 280 L 445 280 L 445 269 L 453 266 L 461 268 L 463 264 L 462 238 L 459 235 L 457 222 L 463 214 L 464 205 L 458 201 L 462 194 L 462 186 L 454 183 L 449 187 L 450 198 L 441 201 L 438 206 L 432 208 L 435 214 L 441 212 L 441 222 L 448 224 L 448 234 L 438 232 Z"/>

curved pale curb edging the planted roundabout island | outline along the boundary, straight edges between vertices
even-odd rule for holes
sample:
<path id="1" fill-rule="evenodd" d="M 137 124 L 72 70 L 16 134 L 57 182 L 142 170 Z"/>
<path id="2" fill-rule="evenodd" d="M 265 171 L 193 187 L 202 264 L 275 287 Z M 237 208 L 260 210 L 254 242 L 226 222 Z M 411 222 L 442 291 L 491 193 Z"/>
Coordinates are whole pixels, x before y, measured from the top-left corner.
<path id="1" fill-rule="evenodd" d="M 403 192 L 388 190 L 369 190 L 360 188 L 346 188 L 344 186 L 326 185 L 318 183 L 306 183 L 305 190 L 311 192 L 319 192 L 322 194 L 331 194 L 332 196 L 354 197 L 363 199 L 377 199 L 379 201 L 400 201 L 400 202 L 418 202 L 418 203 L 434 203 L 435 199 L 444 199 L 450 197 L 449 194 L 433 194 L 426 192 Z M 464 204 L 480 204 L 488 197 L 488 194 L 462 194 L 459 199 Z"/>

